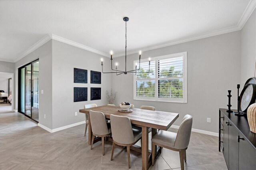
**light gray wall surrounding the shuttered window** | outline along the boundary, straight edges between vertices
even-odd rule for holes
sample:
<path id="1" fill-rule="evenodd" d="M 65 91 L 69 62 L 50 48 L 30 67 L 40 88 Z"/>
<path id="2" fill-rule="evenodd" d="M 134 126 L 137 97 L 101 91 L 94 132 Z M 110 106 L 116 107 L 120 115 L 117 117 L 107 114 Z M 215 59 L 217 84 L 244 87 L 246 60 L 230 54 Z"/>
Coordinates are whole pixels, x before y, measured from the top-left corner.
<path id="1" fill-rule="evenodd" d="M 236 84 L 240 83 L 240 31 L 142 52 L 142 58 L 187 51 L 188 103 L 167 103 L 133 100 L 133 76 L 112 75 L 112 87 L 118 91 L 116 104 L 123 101 L 135 107 L 150 105 L 158 111 L 180 113 L 174 125 L 180 125 L 186 114 L 193 116 L 193 128 L 218 132 L 218 108 L 226 108 L 228 90 L 236 108 Z M 128 55 L 128 69 L 138 54 Z M 118 57 L 124 63 L 124 57 Z M 124 68 L 121 65 L 119 69 Z M 206 123 L 211 118 L 212 123 Z"/>

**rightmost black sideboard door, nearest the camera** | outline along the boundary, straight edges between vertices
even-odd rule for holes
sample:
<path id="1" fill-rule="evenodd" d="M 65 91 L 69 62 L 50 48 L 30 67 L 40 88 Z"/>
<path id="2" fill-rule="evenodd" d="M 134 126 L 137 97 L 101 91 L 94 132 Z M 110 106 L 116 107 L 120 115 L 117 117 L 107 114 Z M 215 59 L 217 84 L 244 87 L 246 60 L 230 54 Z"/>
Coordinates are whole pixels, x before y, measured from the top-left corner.
<path id="1" fill-rule="evenodd" d="M 239 135 L 244 138 L 241 133 Z M 239 142 L 239 169 L 256 170 L 256 150 L 246 139 Z"/>

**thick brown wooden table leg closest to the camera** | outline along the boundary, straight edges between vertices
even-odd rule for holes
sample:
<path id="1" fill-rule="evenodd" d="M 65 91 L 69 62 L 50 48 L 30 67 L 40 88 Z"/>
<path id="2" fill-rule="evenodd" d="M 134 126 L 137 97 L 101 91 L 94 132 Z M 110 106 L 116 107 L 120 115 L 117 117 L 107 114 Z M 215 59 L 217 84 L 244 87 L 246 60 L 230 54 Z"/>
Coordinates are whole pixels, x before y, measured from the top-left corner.
<path id="1" fill-rule="evenodd" d="M 148 127 L 142 127 L 142 170 L 148 168 Z"/>

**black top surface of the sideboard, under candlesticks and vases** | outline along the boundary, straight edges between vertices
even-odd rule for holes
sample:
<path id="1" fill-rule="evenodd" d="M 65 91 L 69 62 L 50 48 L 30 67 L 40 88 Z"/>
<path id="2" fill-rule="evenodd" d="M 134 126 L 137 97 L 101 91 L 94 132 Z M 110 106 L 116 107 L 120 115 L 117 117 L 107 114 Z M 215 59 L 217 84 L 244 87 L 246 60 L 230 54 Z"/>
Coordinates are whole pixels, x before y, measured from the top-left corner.
<path id="1" fill-rule="evenodd" d="M 250 127 L 247 120 L 247 115 L 244 116 L 236 116 L 234 113 L 228 113 L 226 112 L 227 109 L 220 109 L 220 112 L 222 112 L 226 117 L 231 121 L 236 128 L 238 128 L 239 132 L 241 132 L 245 138 L 252 144 L 252 146 L 256 149 L 256 133 L 253 133 L 250 131 Z M 235 109 L 232 109 L 232 111 L 236 111 Z M 226 123 L 225 120 L 224 123 Z"/>

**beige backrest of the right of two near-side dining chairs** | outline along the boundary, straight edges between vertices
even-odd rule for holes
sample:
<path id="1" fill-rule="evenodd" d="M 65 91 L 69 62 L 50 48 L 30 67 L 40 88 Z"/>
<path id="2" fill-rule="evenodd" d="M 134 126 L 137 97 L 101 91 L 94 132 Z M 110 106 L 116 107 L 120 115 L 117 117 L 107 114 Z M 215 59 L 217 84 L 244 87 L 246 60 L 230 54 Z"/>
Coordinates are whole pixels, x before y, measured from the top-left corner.
<path id="1" fill-rule="evenodd" d="M 128 117 L 110 115 L 112 138 L 120 144 L 132 144 L 135 142 L 132 132 L 132 124 Z"/>

